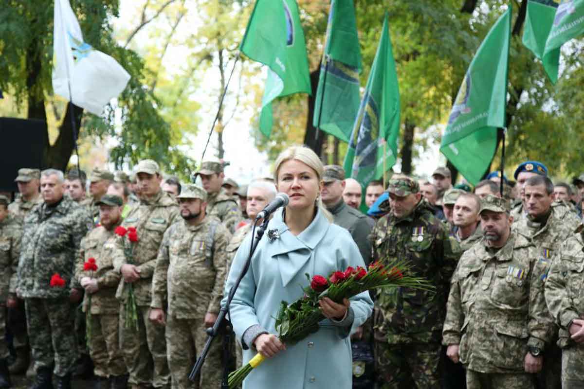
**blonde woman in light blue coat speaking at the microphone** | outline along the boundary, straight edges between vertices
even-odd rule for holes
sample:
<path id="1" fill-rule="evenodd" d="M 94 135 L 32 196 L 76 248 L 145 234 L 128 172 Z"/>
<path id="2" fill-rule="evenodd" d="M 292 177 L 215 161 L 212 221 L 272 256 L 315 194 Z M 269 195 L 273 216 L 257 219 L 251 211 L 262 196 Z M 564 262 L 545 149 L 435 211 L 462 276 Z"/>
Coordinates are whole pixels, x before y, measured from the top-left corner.
<path id="1" fill-rule="evenodd" d="M 282 300 L 292 303 L 303 296 L 306 273 L 328 276 L 348 266 L 364 267 L 363 258 L 349 232 L 333 225 L 322 208 L 319 193 L 324 166 L 318 156 L 294 146 L 280 154 L 275 169 L 276 186 L 290 202 L 270 220 L 230 306 L 231 322 L 244 348 L 244 364 L 257 352 L 266 357 L 245 379 L 244 389 L 350 389 L 349 335 L 371 314 L 369 293 L 343 304 L 321 300 L 327 318 L 318 332 L 296 345 L 281 344 L 274 316 Z M 251 240 L 250 234 L 235 255 L 225 296 L 245 264 Z"/>

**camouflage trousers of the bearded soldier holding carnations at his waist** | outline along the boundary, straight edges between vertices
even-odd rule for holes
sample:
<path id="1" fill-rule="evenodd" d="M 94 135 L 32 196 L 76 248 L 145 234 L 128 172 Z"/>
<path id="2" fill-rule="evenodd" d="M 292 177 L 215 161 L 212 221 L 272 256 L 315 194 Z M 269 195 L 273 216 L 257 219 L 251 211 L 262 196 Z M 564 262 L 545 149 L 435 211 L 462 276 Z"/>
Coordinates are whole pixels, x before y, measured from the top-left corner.
<path id="1" fill-rule="evenodd" d="M 120 349 L 118 315 L 89 315 L 91 337 L 89 355 L 93 360 L 94 373 L 98 377 L 126 374 L 126 363 Z"/>

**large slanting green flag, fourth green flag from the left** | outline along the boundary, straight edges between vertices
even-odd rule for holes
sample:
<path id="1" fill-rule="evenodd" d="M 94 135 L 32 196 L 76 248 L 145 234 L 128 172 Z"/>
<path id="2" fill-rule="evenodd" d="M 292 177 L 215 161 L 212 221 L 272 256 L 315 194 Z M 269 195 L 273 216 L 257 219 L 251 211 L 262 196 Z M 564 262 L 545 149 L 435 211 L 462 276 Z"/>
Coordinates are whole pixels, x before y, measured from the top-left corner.
<path id="1" fill-rule="evenodd" d="M 497 128 L 505 127 L 511 6 L 491 28 L 458 90 L 440 152 L 472 185 L 495 154 Z"/>

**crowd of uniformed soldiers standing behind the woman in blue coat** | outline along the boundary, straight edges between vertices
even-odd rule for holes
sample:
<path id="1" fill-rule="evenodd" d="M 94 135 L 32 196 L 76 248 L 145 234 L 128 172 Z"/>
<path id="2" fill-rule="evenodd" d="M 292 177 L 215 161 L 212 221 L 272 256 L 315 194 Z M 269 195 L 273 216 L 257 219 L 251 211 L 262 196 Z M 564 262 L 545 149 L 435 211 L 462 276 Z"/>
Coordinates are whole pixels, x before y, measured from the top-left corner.
<path id="1" fill-rule="evenodd" d="M 67 389 L 89 362 L 96 388 L 220 387 L 220 341 L 188 375 L 230 262 L 276 196 L 271 178 L 240 187 L 223 169 L 203 162 L 200 185 L 153 160 L 89 180 L 20 169 L 14 201 L 0 195 L 0 388 L 30 367 L 32 389 Z M 514 178 L 492 173 L 471 191 L 439 167 L 363 190 L 325 167 L 322 202 L 366 264 L 406 260 L 433 286 L 376 292 L 352 335 L 374 373 L 354 355 L 354 387 L 584 387 L 584 177 L 553 184 L 529 161 Z"/>

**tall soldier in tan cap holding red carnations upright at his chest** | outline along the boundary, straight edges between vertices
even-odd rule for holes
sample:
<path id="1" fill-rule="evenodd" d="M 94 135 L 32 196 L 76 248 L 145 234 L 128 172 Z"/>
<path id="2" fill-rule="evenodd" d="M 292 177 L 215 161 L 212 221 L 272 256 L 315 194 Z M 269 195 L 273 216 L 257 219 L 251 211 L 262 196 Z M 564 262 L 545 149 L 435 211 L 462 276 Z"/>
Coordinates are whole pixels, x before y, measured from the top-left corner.
<path id="1" fill-rule="evenodd" d="M 164 232 L 176 222 L 178 205 L 169 194 L 162 192 L 162 176 L 156 162 L 142 160 L 135 172 L 140 185 L 140 205 L 135 206 L 121 224 L 137 229 L 133 262 L 129 263 L 124 253 L 126 237 L 118 237 L 112 251 L 114 269 L 122 275 L 116 292 L 121 303 L 120 345 L 130 373 L 130 384 L 134 388 L 162 388 L 170 385 L 164 327 L 151 323 L 148 311 L 156 256 Z M 137 329 L 124 325 L 129 297 L 128 288 L 125 288 L 127 283 L 133 284 L 138 310 Z"/>

